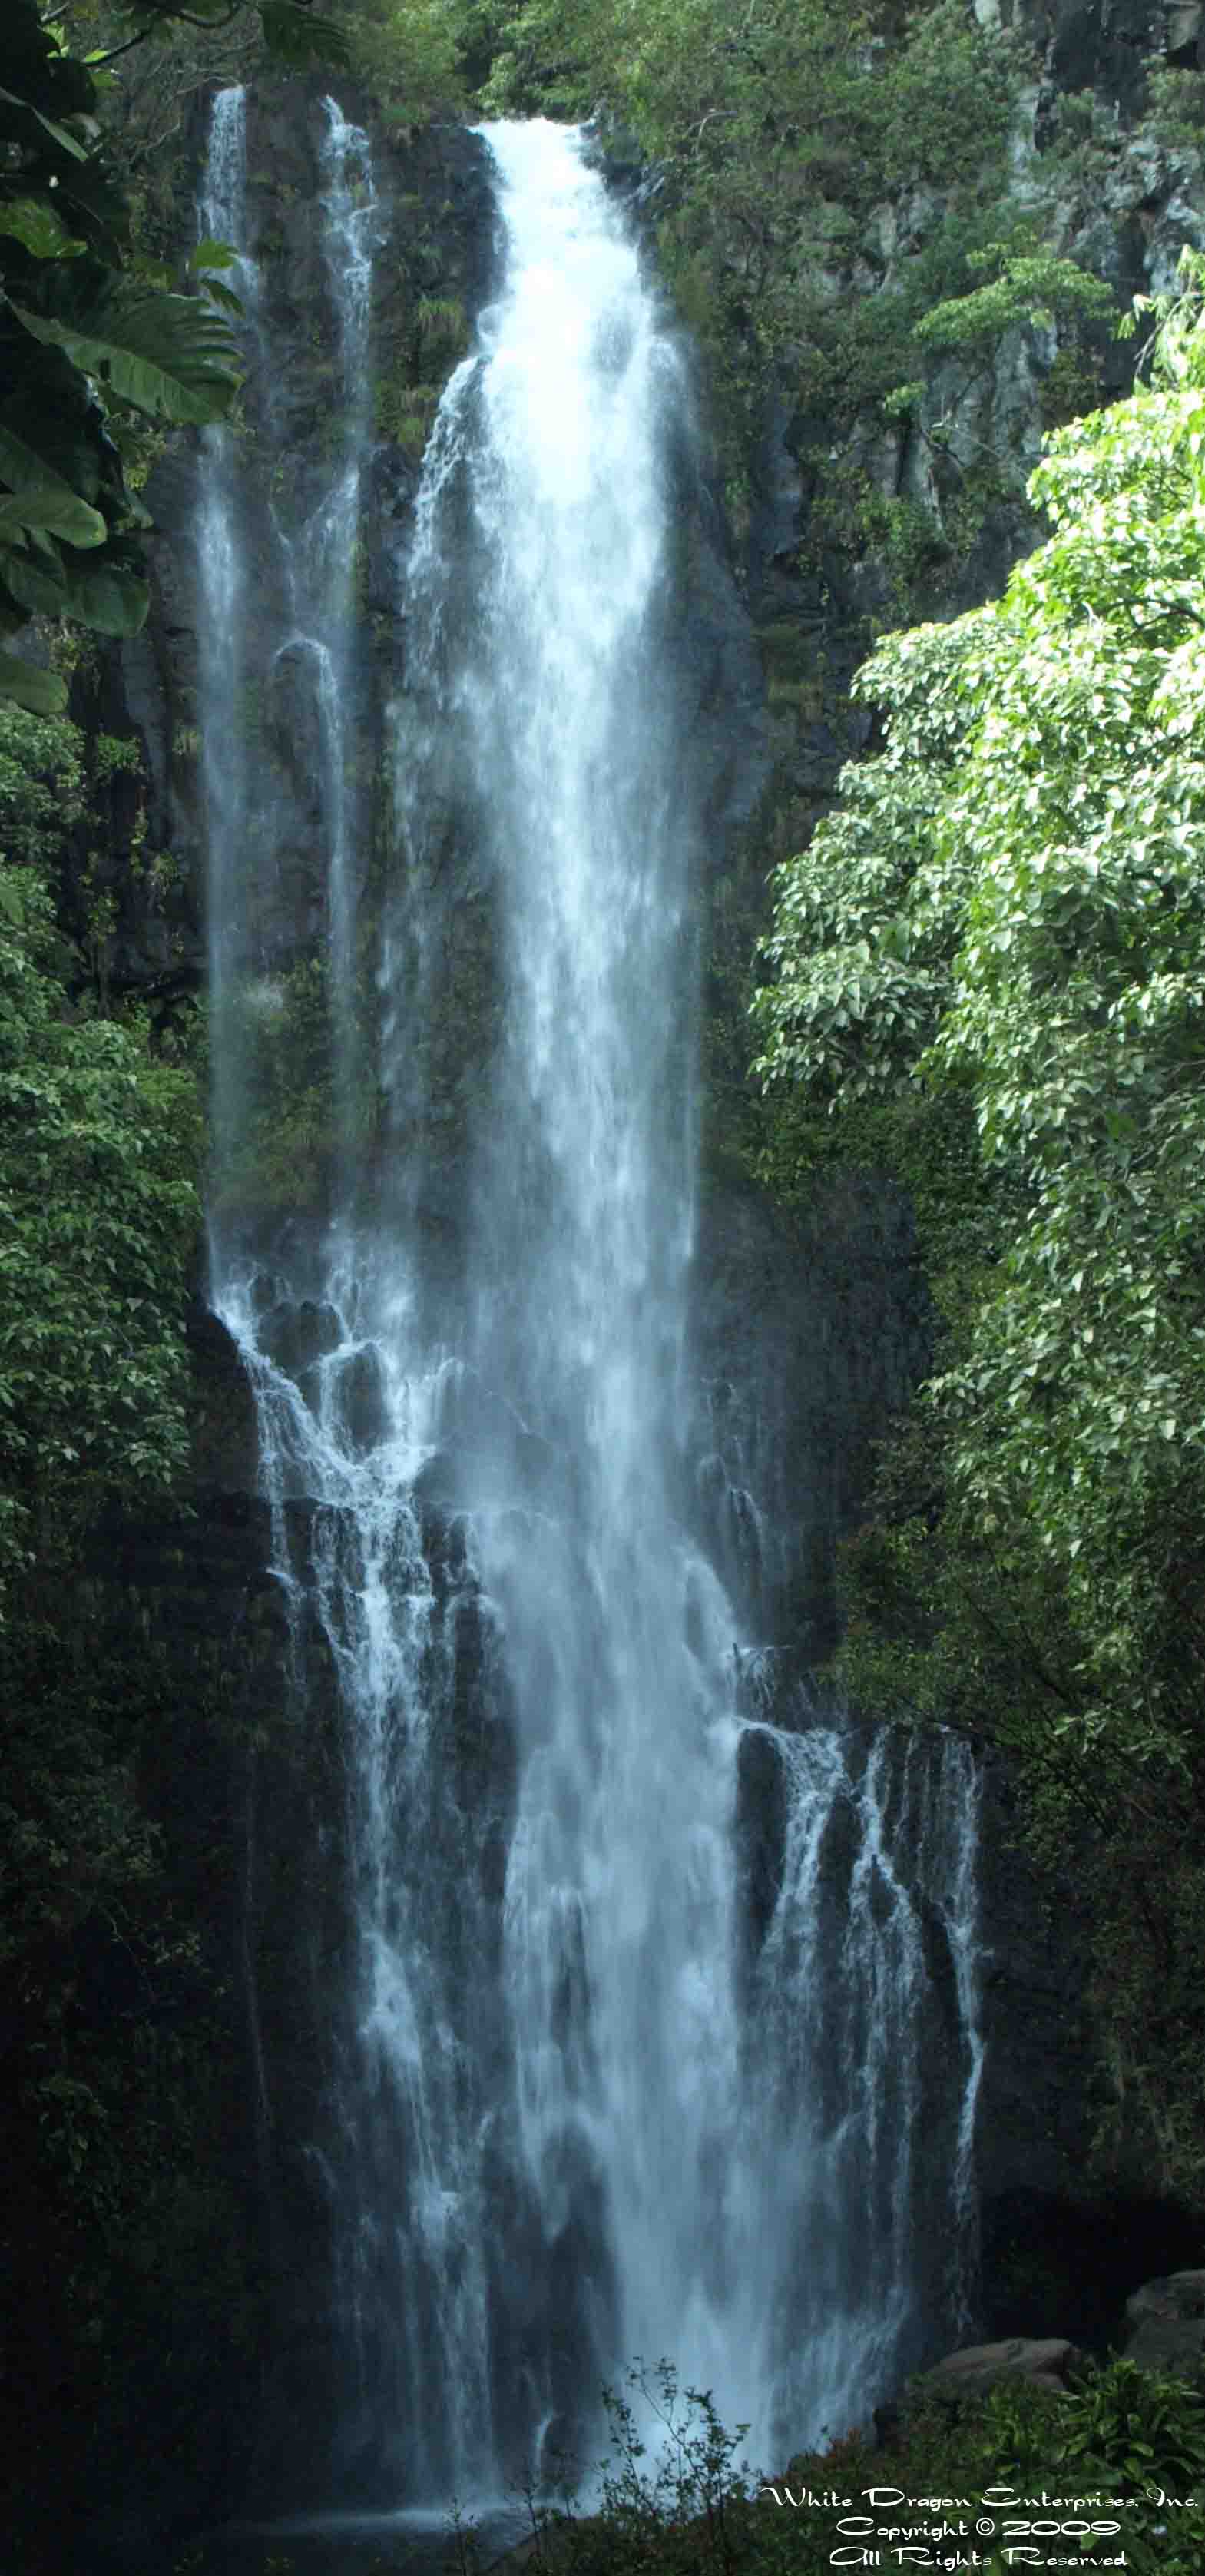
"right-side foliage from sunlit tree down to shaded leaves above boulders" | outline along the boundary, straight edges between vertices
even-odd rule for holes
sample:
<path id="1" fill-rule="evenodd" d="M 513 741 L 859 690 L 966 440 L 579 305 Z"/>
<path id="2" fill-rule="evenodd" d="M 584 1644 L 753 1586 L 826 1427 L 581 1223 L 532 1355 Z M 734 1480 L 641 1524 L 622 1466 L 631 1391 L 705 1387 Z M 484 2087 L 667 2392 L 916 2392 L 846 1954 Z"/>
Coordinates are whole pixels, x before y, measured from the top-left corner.
<path id="1" fill-rule="evenodd" d="M 1051 536 L 1007 595 L 863 670 L 883 750 L 778 871 L 757 994 L 760 1074 L 796 1103 L 785 1170 L 878 1151 L 917 1182 L 942 1118 L 963 1139 L 919 1190 L 945 1340 L 845 1556 L 847 1687 L 1009 1744 L 1051 1865 L 1089 1832 L 1117 2076 L 1184 2192 L 1205 1958 L 1202 389 L 1190 263 L 1151 381 L 1048 440 L 1030 497 Z"/>

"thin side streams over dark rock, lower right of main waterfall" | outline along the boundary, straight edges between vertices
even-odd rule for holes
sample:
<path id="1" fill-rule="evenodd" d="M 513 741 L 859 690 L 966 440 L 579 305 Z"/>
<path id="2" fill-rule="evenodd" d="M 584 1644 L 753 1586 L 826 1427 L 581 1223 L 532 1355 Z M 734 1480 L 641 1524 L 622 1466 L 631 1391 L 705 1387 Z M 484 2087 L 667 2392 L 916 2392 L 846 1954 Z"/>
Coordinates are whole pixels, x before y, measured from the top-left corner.
<path id="1" fill-rule="evenodd" d="M 772 2141 L 754 2308 L 780 2419 L 839 2434 L 914 2357 L 924 2290 L 971 2324 L 978 1775 L 955 1736 L 901 1747 L 832 1721 L 749 1726 L 744 1754 L 752 1811 L 778 1814 L 747 1994 L 747 2117 Z"/>

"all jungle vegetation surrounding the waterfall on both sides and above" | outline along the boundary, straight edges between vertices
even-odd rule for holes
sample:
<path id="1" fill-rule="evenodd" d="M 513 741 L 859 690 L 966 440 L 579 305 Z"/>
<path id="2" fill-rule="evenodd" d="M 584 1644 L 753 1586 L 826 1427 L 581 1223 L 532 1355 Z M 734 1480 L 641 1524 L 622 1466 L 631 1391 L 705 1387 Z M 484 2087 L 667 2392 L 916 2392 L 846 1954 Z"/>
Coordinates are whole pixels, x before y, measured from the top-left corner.
<path id="1" fill-rule="evenodd" d="M 757 1020 L 734 1012 L 726 1041 L 734 1084 L 757 1054 L 767 1087 L 757 1110 L 742 1090 L 739 1157 L 788 1216 L 842 1159 L 904 1185 L 940 1319 L 929 1383 L 845 1556 L 834 1682 L 1022 1767 L 1035 1850 L 1094 1909 L 1130 2123 L 1120 2141 L 1105 2117 L 1102 2172 L 1125 2143 L 1205 2208 L 1205 322 L 1190 268 L 1179 301 L 1143 317 L 1159 343 L 1135 392 L 1094 410 L 1117 304 L 1053 247 L 1048 211 L 1092 185 L 1110 100 L 1053 103 L 1017 196 L 1009 137 L 1035 59 L 960 0 L 857 15 L 839 0 L 330 0 L 324 21 L 301 0 L 10 0 L 0 2148 L 18 2179 L 0 2254 L 23 2316 L 5 2450 L 33 2499 L 8 2527 L 31 2566 L 46 2499 L 67 2514 L 93 2496 L 147 2388 L 154 2455 L 196 2455 L 221 2378 L 252 2378 L 260 2321 L 216 1896 L 234 1721 L 216 1674 L 183 1744 L 157 1649 L 95 1625 L 88 1553 L 106 1515 L 178 1507 L 203 1046 L 165 1046 L 98 987 L 64 886 L 103 837 L 98 750 L 70 714 L 80 636 L 139 629 L 147 464 L 237 399 L 221 245 L 191 270 L 170 260 L 178 137 L 198 88 L 268 59 L 350 67 L 394 126 L 600 113 L 610 142 L 628 134 L 703 348 L 736 546 L 765 404 L 785 389 L 816 613 L 834 564 L 883 569 L 857 644 L 873 644 L 857 680 L 873 752 L 808 845 L 788 842 L 757 969 L 757 902 L 736 907 L 724 984 L 726 1010 L 760 984 Z M 1154 64 L 1138 113 L 1195 149 L 1200 77 Z M 968 469 L 942 448 L 929 386 L 940 363 L 973 381 L 1032 317 L 1058 322 L 1063 425 L 1025 502 L 1017 456 Z M 942 526 L 883 497 L 875 443 L 904 435 L 932 456 Z M 996 505 L 1032 513 L 1025 546 L 1040 544 L 1002 598 L 948 616 Z M 173 1525 L 173 1546 L 185 1538 Z M 167 1752 L 193 1798 L 175 1839 Z M 1097 2432 L 1120 2465 L 1146 2437 L 1120 2416 Z M 621 2473 L 608 2566 L 621 2545 L 631 2563 L 729 2566 L 705 2555 L 711 2522 L 705 2543 L 680 2532 L 731 2463 L 724 2432 L 703 2437 L 721 2450 L 708 2465 L 703 2442 L 669 2535 Z M 1051 2465 L 1056 2439 L 991 2419 L 981 2465 Z M 929 2463 L 950 2481 L 942 2442 L 919 2439 L 901 2478 Z M 742 2548 L 734 2563 L 785 2563 Z"/>

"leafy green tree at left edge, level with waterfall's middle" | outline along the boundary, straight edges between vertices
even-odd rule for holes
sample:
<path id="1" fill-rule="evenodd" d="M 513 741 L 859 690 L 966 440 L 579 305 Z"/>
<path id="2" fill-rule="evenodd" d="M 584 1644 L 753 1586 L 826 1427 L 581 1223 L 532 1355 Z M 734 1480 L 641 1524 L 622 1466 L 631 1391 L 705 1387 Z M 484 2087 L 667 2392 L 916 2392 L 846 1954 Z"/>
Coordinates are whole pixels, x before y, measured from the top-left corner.
<path id="1" fill-rule="evenodd" d="M 80 737 L 0 711 L 0 1597 L 51 1517 L 185 1450 L 178 1311 L 198 1108 L 139 1020 L 75 1018 L 39 868 L 82 814 Z"/>

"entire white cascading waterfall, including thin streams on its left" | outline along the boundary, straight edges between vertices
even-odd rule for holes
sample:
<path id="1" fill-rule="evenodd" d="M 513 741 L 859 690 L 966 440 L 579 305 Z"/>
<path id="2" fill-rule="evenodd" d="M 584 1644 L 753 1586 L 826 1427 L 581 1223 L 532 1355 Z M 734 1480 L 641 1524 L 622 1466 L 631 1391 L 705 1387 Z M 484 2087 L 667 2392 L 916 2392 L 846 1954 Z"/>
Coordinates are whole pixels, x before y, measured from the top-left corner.
<path id="1" fill-rule="evenodd" d="M 239 95 L 214 111 L 206 222 L 242 247 Z M 366 139 L 332 100 L 324 118 L 345 428 L 304 526 L 278 531 L 276 657 L 304 649 L 322 675 L 348 1162 L 363 974 L 348 567 L 378 214 Z M 868 1749 L 803 1703 L 798 1734 L 760 1713 L 744 1620 L 765 1533 L 736 1597 L 754 1507 L 713 1561 L 716 1497 L 700 1510 L 687 1445 L 680 348 L 582 139 L 533 124 L 487 142 L 502 283 L 443 397 L 402 564 L 386 1149 L 366 1188 L 345 1170 L 306 1249 L 296 1229 L 270 1249 L 245 1224 L 214 1229 L 299 1695 L 309 1605 L 345 1723 L 350 1937 L 314 2154 L 335 2228 L 337 2470 L 378 2499 L 541 2470 L 561 2445 L 590 2455 L 600 2383 L 636 2352 L 752 2419 L 767 2460 L 837 2429 L 917 2347 L 935 2280 L 950 2290 L 922 2233 L 950 2236 L 953 2213 L 966 2239 L 978 2081 L 971 1770 L 953 1744 Z M 247 580 L 216 446 L 201 572 L 216 726 Z M 229 860 L 239 796 L 245 775 L 214 768 L 219 1038 L 232 987 L 257 974 Z M 494 1048 L 448 1242 L 422 1208 L 453 829 L 489 925 Z M 234 1162 L 239 1115 L 250 1133 L 263 1110 L 250 1066 L 232 1046 L 216 1077 Z M 927 2014 L 940 2081 L 917 2056 Z M 932 2154 L 919 2174 L 922 2117 L 945 2138 L 940 2184 Z"/>

